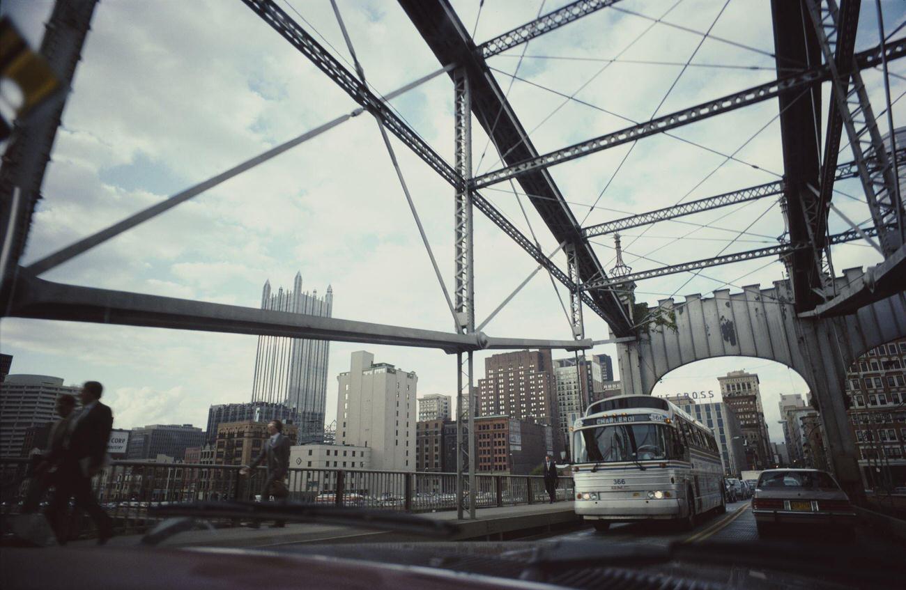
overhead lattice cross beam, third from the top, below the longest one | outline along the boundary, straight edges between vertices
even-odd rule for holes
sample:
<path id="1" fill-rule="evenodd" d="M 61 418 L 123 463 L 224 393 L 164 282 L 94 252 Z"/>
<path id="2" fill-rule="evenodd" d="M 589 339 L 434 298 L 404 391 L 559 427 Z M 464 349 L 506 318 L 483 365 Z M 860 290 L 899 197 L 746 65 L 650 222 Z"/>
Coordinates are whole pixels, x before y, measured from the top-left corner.
<path id="1" fill-rule="evenodd" d="M 903 162 L 903 165 L 906 165 L 906 162 L 903 161 L 904 157 L 906 157 L 906 148 L 898 149 L 897 161 Z M 834 179 L 843 180 L 844 178 L 853 178 L 858 175 L 859 172 L 856 168 L 856 163 L 846 162 L 836 167 L 836 174 L 834 175 Z M 710 211 L 711 209 L 718 209 L 719 207 L 736 205 L 737 203 L 745 203 L 747 201 L 755 201 L 766 196 L 780 195 L 785 190 L 786 183 L 784 183 L 784 181 L 782 180 L 778 180 L 777 182 L 773 183 L 766 183 L 765 185 L 749 186 L 748 188 L 733 191 L 732 193 L 708 196 L 703 199 L 699 199 L 697 201 L 689 201 L 689 203 L 683 203 L 681 205 L 664 207 L 663 209 L 656 209 L 654 211 L 649 211 L 647 213 L 638 215 L 630 215 L 628 217 L 614 219 L 613 221 L 609 221 L 603 224 L 590 225 L 583 228 L 582 233 L 585 238 L 593 238 L 598 235 L 619 232 L 620 230 L 628 229 L 631 227 L 656 224 L 661 221 L 676 219 L 677 217 L 682 217 L 684 215 L 701 213 L 703 211 Z"/>

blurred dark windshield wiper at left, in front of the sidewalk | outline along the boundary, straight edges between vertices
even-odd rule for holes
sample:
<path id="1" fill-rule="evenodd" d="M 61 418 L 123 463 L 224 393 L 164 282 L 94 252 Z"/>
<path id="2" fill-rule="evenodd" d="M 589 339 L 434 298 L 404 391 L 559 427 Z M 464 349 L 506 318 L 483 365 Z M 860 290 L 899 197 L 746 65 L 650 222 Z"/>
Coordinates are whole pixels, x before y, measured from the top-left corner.
<path id="1" fill-rule="evenodd" d="M 148 509 L 151 517 L 169 517 L 149 531 L 142 543 L 157 545 L 160 541 L 194 527 L 195 519 L 249 519 L 286 520 L 343 525 L 356 528 L 374 528 L 423 535 L 426 537 L 453 537 L 459 527 L 443 520 L 426 519 L 414 514 L 321 506 L 300 502 L 219 501 L 187 502 L 154 506 Z M 181 518 L 179 518 L 181 517 Z"/>

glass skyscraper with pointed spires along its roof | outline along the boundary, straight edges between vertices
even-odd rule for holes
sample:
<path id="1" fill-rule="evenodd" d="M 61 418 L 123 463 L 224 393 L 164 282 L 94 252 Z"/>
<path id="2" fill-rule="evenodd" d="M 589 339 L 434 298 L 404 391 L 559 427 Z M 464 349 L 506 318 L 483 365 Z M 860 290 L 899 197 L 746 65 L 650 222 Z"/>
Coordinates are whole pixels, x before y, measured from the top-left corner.
<path id="1" fill-rule="evenodd" d="M 333 288 L 318 297 L 302 290 L 302 273 L 297 272 L 293 290 L 279 288 L 271 292 L 265 282 L 261 309 L 330 318 L 333 312 Z M 327 395 L 327 356 L 330 342 L 304 338 L 259 336 L 255 355 L 255 381 L 252 402 L 284 404 L 299 414 L 301 441 L 320 441 L 324 429 L 324 403 Z"/>

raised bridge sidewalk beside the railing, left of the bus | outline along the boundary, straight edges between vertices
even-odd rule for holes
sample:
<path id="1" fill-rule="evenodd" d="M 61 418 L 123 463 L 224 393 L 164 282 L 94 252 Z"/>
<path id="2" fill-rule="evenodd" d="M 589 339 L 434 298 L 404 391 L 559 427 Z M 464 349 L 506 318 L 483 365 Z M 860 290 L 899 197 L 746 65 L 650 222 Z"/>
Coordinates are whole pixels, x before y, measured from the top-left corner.
<path id="1" fill-rule="evenodd" d="M 179 533 L 158 547 L 273 547 L 297 543 L 371 543 L 421 539 L 503 540 L 541 533 L 551 528 L 569 527 L 579 522 L 579 518 L 573 512 L 573 502 L 571 501 L 477 509 L 475 520 L 468 518 L 457 520 L 456 510 L 429 512 L 419 514 L 419 516 L 456 523 L 460 527 L 460 532 L 454 538 L 426 539 L 410 533 L 335 525 L 297 523 L 287 524 L 285 528 L 267 528 L 270 523 L 265 521 L 261 528 L 217 528 L 217 530 L 192 530 Z M 141 535 L 114 537 L 111 538 L 108 545 L 111 547 L 139 545 L 141 537 Z M 96 541 L 93 539 L 86 539 L 72 542 L 70 546 L 91 546 L 95 543 Z"/>

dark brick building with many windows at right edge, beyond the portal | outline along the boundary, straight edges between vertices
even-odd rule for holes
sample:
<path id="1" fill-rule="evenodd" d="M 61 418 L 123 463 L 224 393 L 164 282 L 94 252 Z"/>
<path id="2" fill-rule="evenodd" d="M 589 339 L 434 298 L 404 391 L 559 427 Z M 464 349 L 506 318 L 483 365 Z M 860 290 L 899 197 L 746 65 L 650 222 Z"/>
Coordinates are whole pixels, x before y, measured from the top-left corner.
<path id="1" fill-rule="evenodd" d="M 906 145 L 897 129 L 897 145 Z M 872 348 L 846 375 L 850 429 L 867 489 L 906 481 L 906 338 Z"/>

